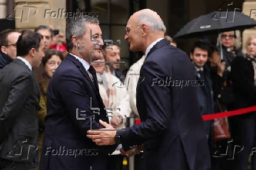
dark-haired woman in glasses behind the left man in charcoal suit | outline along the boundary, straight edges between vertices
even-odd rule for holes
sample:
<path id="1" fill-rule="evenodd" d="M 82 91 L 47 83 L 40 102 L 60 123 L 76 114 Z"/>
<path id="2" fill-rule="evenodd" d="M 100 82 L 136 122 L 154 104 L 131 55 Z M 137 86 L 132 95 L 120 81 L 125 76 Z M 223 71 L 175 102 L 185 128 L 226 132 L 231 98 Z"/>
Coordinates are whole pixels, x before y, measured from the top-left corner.
<path id="1" fill-rule="evenodd" d="M 46 116 L 46 91 L 50 78 L 53 73 L 62 62 L 62 53 L 48 49 L 45 51 L 45 57 L 43 57 L 41 65 L 38 70 L 35 70 L 36 80 L 38 81 L 39 89 L 41 90 L 40 106 L 41 110 L 38 112 L 39 121 L 39 137 L 38 137 L 38 155 L 39 159 L 42 152 L 43 142 L 43 129 L 45 128 L 45 116 Z"/>

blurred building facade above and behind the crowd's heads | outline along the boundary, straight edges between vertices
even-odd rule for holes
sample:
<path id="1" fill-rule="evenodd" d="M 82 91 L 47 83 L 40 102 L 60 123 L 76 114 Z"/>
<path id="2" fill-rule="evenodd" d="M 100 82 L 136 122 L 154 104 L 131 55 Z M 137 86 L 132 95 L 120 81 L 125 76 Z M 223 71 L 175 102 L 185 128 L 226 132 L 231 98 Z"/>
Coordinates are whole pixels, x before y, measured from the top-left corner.
<path id="1" fill-rule="evenodd" d="M 213 11 L 236 9 L 256 18 L 255 0 L 0 0 L 0 29 L 35 29 L 39 25 L 52 25 L 59 32 L 65 33 L 66 17 L 58 15 L 58 12 L 95 12 L 100 21 L 103 39 L 113 40 L 121 48 L 122 61 L 125 62 L 121 64 L 121 70 L 124 70 L 143 55 L 141 52 L 130 52 L 129 45 L 124 40 L 124 28 L 129 16 L 144 8 L 159 13 L 167 28 L 166 35 L 171 37 L 187 22 Z M 254 28 L 244 30 L 242 39 L 255 32 Z M 215 43 L 217 35 L 207 38 Z M 177 46 L 187 53 L 194 41 L 195 39 L 176 39 Z"/>

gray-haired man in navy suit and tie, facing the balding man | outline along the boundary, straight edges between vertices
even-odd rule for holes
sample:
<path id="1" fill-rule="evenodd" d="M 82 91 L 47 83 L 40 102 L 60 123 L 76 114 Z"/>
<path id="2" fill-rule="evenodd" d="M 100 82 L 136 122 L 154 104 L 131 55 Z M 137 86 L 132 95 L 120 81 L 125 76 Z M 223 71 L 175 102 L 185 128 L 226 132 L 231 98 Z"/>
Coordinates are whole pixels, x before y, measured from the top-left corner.
<path id="1" fill-rule="evenodd" d="M 106 169 L 114 146 L 99 147 L 86 137 L 87 130 L 108 123 L 95 69 L 102 56 L 102 31 L 96 18 L 69 21 L 66 28 L 69 54 L 50 79 L 40 169 Z"/>

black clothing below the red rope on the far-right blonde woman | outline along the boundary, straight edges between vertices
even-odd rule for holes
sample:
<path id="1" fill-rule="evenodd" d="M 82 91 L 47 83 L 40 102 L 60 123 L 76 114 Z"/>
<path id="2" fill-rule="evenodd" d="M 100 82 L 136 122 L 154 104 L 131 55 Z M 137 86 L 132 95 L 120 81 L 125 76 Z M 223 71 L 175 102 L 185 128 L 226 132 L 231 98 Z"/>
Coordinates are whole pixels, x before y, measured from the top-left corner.
<path id="1" fill-rule="evenodd" d="M 248 159 L 252 149 L 256 147 L 256 113 L 230 117 L 229 123 L 234 145 L 240 146 L 237 149 L 234 148 L 234 160 L 231 169 L 247 170 Z M 244 148 L 241 149 L 241 147 Z M 251 162 L 252 170 L 256 170 L 256 152 L 252 154 Z"/>

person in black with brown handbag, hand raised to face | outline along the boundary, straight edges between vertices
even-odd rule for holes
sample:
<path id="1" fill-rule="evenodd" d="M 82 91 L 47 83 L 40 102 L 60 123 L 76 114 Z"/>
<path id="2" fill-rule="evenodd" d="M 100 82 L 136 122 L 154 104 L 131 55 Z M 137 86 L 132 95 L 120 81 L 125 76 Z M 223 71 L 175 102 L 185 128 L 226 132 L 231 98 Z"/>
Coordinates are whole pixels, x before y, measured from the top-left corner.
<path id="1" fill-rule="evenodd" d="M 221 56 L 218 52 L 217 47 L 211 46 L 212 54 L 208 58 L 211 67 L 211 82 L 213 87 L 213 100 L 214 100 L 214 113 L 220 113 L 227 111 L 227 101 L 230 100 L 230 96 L 224 92 L 227 82 L 223 79 L 223 74 L 225 70 L 225 62 L 221 62 Z M 222 134 L 215 132 L 217 123 L 222 123 L 221 130 L 228 130 L 227 118 L 220 118 L 213 121 L 213 145 L 211 146 L 211 170 L 227 170 L 228 161 L 227 158 L 230 152 L 227 153 L 227 157 L 216 157 L 220 154 L 226 152 L 228 146 L 228 141 L 230 136 L 221 131 Z M 224 135 L 225 134 L 225 135 Z"/>

